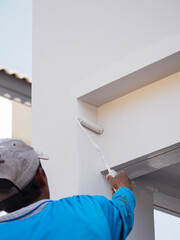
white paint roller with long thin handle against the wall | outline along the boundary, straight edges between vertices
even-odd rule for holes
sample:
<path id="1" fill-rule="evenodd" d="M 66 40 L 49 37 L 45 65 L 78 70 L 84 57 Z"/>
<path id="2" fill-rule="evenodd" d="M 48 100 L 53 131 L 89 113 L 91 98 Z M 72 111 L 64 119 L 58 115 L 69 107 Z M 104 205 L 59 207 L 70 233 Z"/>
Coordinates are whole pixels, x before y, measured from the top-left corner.
<path id="1" fill-rule="evenodd" d="M 77 121 L 77 124 L 79 125 L 79 127 L 82 129 L 82 131 L 83 131 L 83 132 L 85 133 L 85 135 L 88 137 L 88 139 L 90 140 L 90 142 L 92 143 L 92 145 L 93 145 L 93 146 L 96 148 L 96 150 L 99 152 L 100 157 L 102 158 L 102 160 L 103 160 L 103 162 L 104 162 L 104 164 L 105 164 L 105 166 L 106 166 L 106 168 L 107 168 L 107 170 L 108 170 L 108 175 L 111 175 L 112 177 L 115 177 L 116 174 L 117 174 L 117 172 L 109 167 L 106 159 L 104 158 L 104 155 L 103 155 L 101 149 L 99 148 L 99 146 L 97 145 L 97 143 L 95 143 L 95 141 L 90 137 L 90 135 L 89 135 L 89 134 L 87 133 L 87 131 L 85 130 L 85 128 L 87 128 L 87 129 L 93 131 L 94 133 L 102 134 L 103 131 L 104 131 L 104 129 L 103 129 L 101 126 L 99 126 L 99 125 L 97 125 L 97 124 L 95 124 L 95 123 L 93 123 L 93 122 L 91 122 L 91 121 L 89 121 L 89 120 L 87 120 L 87 119 L 85 119 L 85 118 L 82 118 L 82 117 L 76 118 L 76 121 Z"/>

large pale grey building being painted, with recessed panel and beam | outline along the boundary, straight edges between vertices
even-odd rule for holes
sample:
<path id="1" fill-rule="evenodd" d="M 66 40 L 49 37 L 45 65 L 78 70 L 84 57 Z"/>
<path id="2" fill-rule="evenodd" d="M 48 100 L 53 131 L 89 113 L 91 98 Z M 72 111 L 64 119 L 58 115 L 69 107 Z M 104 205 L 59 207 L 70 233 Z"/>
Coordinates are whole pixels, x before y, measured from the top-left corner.
<path id="1" fill-rule="evenodd" d="M 76 118 L 102 125 L 103 134 L 89 134 L 136 184 L 129 240 L 154 239 L 154 208 L 180 213 L 179 7 L 34 1 L 32 142 L 50 156 L 52 198 L 110 197 L 105 166 Z"/>

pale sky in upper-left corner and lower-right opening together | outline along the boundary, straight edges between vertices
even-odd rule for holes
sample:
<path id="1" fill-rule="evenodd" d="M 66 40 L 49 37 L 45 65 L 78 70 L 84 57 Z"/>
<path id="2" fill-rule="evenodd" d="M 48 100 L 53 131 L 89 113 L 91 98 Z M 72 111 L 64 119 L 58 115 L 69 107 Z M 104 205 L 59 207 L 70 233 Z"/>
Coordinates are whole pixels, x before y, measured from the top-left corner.
<path id="1" fill-rule="evenodd" d="M 32 0 L 0 0 L 0 67 L 32 78 Z M 179 240 L 180 218 L 154 211 L 156 240 Z"/>

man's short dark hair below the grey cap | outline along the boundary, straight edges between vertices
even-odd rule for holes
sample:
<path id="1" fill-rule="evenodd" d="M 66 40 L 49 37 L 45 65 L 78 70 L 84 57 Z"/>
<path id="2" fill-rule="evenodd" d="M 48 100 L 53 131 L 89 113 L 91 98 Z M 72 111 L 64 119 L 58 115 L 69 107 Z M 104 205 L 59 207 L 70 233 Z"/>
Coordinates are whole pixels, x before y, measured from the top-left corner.
<path id="1" fill-rule="evenodd" d="M 41 165 L 39 166 L 39 168 L 40 167 L 41 167 Z M 43 171 L 43 173 L 44 173 L 44 171 Z M 1 186 L 2 186 L 2 188 L 1 188 Z M 4 192 L 5 189 L 8 190 L 10 187 L 17 188 L 11 181 L 9 181 L 7 179 L 0 179 L 0 192 Z M 26 187 L 24 187 L 22 190 L 19 190 L 18 193 L 16 193 L 12 197 L 9 197 L 8 199 L 0 201 L 0 211 L 5 211 L 8 213 L 16 211 L 22 207 L 28 206 L 33 201 L 38 199 L 38 197 L 40 195 L 41 195 L 41 188 L 38 185 L 36 178 L 34 176 L 34 178 L 31 180 L 31 182 Z"/>

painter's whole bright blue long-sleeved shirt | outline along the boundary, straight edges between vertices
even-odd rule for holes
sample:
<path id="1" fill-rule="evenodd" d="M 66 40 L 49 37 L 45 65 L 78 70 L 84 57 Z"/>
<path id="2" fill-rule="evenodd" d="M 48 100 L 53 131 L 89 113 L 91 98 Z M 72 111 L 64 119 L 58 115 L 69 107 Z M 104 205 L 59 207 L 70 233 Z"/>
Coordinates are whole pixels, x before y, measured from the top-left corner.
<path id="1" fill-rule="evenodd" d="M 125 187 L 112 200 L 82 195 L 50 201 L 38 213 L 1 222 L 0 239 L 124 240 L 133 227 L 134 207 L 134 194 Z"/>

